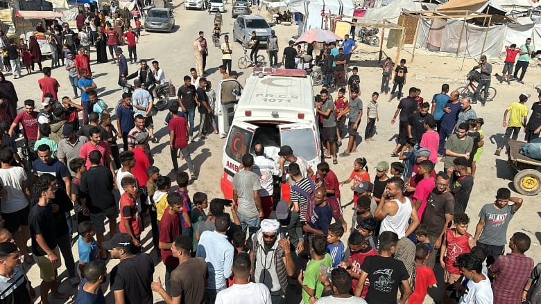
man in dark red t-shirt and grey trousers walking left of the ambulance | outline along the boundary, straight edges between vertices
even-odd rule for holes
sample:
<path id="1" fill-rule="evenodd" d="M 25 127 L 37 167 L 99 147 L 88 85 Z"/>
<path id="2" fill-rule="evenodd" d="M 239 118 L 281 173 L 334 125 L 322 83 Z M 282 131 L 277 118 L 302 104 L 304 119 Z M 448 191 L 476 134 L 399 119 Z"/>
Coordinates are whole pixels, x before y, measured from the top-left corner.
<path id="1" fill-rule="evenodd" d="M 186 160 L 191 179 L 197 179 L 194 163 L 191 162 L 190 152 L 188 150 L 188 122 L 184 117 L 178 116 L 178 105 L 169 107 L 169 114 L 172 117 L 169 120 L 169 146 L 171 148 L 173 171 L 178 171 L 177 153 L 180 149 L 182 157 Z"/>

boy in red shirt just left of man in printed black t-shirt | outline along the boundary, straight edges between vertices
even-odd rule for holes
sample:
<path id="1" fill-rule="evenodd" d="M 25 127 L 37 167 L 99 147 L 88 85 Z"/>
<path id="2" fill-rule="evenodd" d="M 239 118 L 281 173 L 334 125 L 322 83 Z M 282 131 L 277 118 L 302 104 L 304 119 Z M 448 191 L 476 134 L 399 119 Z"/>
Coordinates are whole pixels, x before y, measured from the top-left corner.
<path id="1" fill-rule="evenodd" d="M 350 257 L 347 258 L 347 261 L 341 262 L 339 266 L 350 269 L 348 272 L 352 277 L 351 287 L 353 292 L 359 283 L 361 266 L 363 265 L 364 260 L 367 256 L 377 256 L 377 251 L 368 244 L 368 238 L 361 235 L 359 231 L 353 231 L 350 234 L 350 238 L 347 238 L 347 247 L 350 249 Z M 366 284 L 370 284 L 368 283 L 368 280 L 366 281 Z M 366 288 L 363 288 L 361 297 L 366 296 L 367 292 L 368 285 L 366 285 Z"/>

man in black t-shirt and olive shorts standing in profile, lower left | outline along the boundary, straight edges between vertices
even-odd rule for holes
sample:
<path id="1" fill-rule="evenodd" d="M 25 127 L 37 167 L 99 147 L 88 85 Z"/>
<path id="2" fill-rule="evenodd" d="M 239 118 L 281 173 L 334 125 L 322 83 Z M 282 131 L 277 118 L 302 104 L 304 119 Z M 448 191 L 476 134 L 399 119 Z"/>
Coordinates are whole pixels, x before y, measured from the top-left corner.
<path id="1" fill-rule="evenodd" d="M 47 295 L 49 290 L 53 298 L 67 300 L 68 294 L 58 292 L 58 269 L 61 265 L 58 238 L 55 234 L 55 218 L 53 208 L 49 206 L 51 199 L 55 198 L 55 190 L 49 179 L 40 177 L 33 187 L 33 195 L 37 198 L 29 215 L 30 235 L 32 239 L 32 253 L 37 267 L 40 267 L 40 296 L 42 303 L 49 304 Z"/>

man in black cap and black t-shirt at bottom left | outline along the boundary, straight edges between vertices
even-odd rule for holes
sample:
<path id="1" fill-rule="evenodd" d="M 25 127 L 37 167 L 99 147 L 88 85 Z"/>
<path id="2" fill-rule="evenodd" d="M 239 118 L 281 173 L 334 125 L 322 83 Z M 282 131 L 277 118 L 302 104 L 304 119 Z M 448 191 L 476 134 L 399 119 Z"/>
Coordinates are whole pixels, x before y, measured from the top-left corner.
<path id="1" fill-rule="evenodd" d="M 117 303 L 152 304 L 151 283 L 154 262 L 148 253 L 132 253 L 132 237 L 126 233 L 115 234 L 103 247 L 111 258 L 120 260 L 111 270 L 111 290 Z"/>

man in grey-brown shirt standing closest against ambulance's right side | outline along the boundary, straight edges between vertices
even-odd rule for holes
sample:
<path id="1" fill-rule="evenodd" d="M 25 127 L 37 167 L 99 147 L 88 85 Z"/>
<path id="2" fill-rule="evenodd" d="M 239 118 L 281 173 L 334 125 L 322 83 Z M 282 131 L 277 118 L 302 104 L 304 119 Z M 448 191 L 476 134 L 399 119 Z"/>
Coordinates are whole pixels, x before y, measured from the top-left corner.
<path id="1" fill-rule="evenodd" d="M 329 100 L 329 91 L 323 89 L 319 92 L 321 102 L 318 102 L 317 112 L 318 116 L 323 118 L 323 129 L 322 129 L 322 141 L 327 145 L 327 154 L 325 158 L 330 158 L 332 155 L 332 163 L 336 165 L 338 161 L 336 160 L 336 119 L 334 118 L 334 103 L 332 100 Z M 322 143 L 322 144 L 323 144 Z"/>

